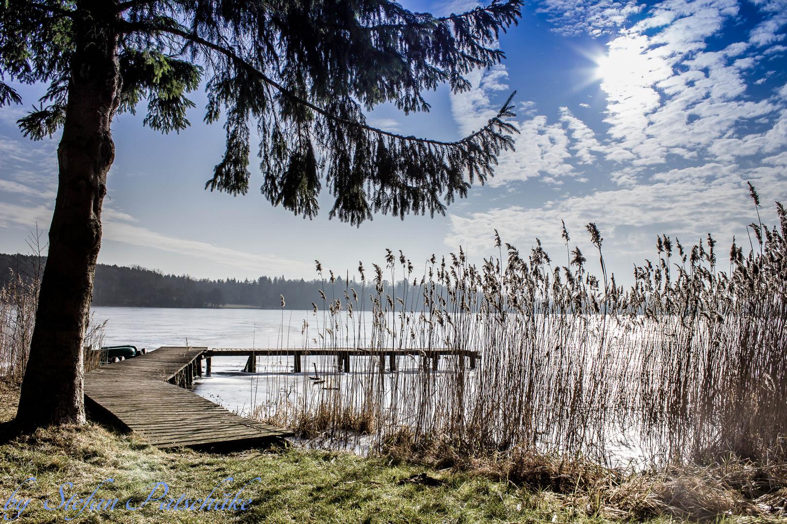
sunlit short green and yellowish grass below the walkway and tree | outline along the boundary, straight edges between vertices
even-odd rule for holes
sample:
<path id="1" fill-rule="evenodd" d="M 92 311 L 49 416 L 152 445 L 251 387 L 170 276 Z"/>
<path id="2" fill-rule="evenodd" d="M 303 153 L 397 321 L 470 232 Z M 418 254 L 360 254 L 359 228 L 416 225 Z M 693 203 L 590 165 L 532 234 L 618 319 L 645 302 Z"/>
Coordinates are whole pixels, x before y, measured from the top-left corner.
<path id="1" fill-rule="evenodd" d="M 13 416 L 15 389 L 0 387 L 4 420 Z M 636 511 L 593 509 L 588 497 L 557 494 L 494 481 L 467 472 L 434 471 L 386 458 L 362 458 L 346 453 L 300 449 L 252 449 L 242 453 L 198 453 L 190 449 L 161 451 L 135 434 L 117 434 L 91 423 L 60 427 L 0 440 L 0 507 L 6 519 L 17 515 L 9 497 L 30 500 L 17 522 L 627 522 L 631 519 L 667 522 L 667 517 L 636 518 Z M 177 500 L 198 504 L 213 491 L 224 500 L 242 491 L 247 510 L 174 509 Z M 79 513 L 84 499 L 108 478 L 91 504 Z M 72 494 L 83 500 L 61 504 Z M 168 493 L 137 508 L 164 482 Z M 226 493 L 226 495 L 225 495 Z M 153 498 L 163 494 L 159 487 Z M 183 497 L 181 497 L 183 496 Z M 172 500 L 170 500 L 172 497 Z M 98 500 L 117 499 L 112 503 Z M 184 503 L 186 499 L 190 503 Z M 164 508 L 161 505 L 164 503 Z M 23 503 L 24 504 L 24 503 Z M 100 505 L 102 509 L 91 506 Z M 169 504 L 170 509 L 166 509 Z M 76 505 L 76 509 L 72 509 Z M 236 504 L 239 506 L 240 504 Z M 759 520 L 759 519 L 757 519 Z M 748 519 L 752 522 L 752 519 Z M 763 521 L 764 522 L 764 521 Z"/>

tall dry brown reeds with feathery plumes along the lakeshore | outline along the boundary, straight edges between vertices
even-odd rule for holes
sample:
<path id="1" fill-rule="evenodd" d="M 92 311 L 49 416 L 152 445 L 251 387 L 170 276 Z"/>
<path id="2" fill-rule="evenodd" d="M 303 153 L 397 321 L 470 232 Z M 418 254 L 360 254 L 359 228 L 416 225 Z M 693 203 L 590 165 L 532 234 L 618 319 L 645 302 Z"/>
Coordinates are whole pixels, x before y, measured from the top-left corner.
<path id="1" fill-rule="evenodd" d="M 600 277 L 569 251 L 565 229 L 565 265 L 540 242 L 523 255 L 497 237 L 499 255 L 480 267 L 460 249 L 415 275 L 389 251 L 384 269 L 359 268 L 360 282 L 337 288 L 331 273 L 302 346 L 373 356 L 320 387 L 273 378 L 256 415 L 309 437 L 468 456 L 525 448 L 605 460 L 624 441 L 660 463 L 783 459 L 787 215 L 777 211 L 779 228 L 750 226 L 748 256 L 733 242 L 728 272 L 710 235 L 692 247 L 660 236 L 656 262 L 637 267 L 629 289 L 606 274 L 594 224 Z M 406 285 L 388 295 L 387 278 Z M 396 372 L 380 365 L 385 350 L 438 347 L 479 350 L 480 367 L 443 357 L 433 372 L 417 356 L 400 357 Z"/>

